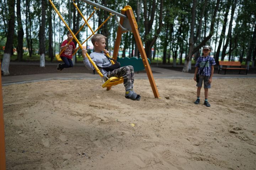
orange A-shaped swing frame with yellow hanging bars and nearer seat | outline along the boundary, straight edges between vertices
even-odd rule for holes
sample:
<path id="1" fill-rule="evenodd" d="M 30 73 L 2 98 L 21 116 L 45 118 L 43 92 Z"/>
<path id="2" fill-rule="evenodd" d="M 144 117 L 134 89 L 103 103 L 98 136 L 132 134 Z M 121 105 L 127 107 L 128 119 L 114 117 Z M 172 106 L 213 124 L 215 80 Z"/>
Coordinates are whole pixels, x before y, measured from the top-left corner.
<path id="1" fill-rule="evenodd" d="M 122 36 L 122 33 L 125 33 L 127 31 L 131 31 L 134 35 L 134 38 L 135 38 L 135 42 L 138 46 L 138 49 L 139 49 L 139 52 L 140 52 L 140 55 L 142 57 L 142 61 L 143 61 L 143 64 L 144 64 L 144 67 L 145 67 L 145 70 L 146 70 L 146 73 L 148 75 L 148 78 L 149 78 L 149 82 L 150 82 L 150 85 L 151 85 L 151 88 L 153 90 L 153 93 L 154 93 L 154 96 L 155 98 L 160 98 L 159 96 L 159 92 L 158 92 L 158 89 L 156 88 L 156 84 L 155 84 L 155 81 L 154 81 L 154 78 L 153 78 L 153 74 L 152 74 L 152 71 L 151 71 L 151 68 L 150 68 L 150 65 L 148 63 L 148 60 L 147 60 L 147 57 L 146 57 L 146 53 L 145 53 L 145 50 L 143 48 L 143 44 L 142 44 L 142 40 L 140 38 L 140 35 L 139 35 L 139 31 L 138 31 L 138 25 L 137 25 L 137 22 L 136 22 L 136 19 L 135 19 L 135 16 L 133 14 L 133 10 L 132 10 L 132 7 L 130 7 L 129 5 L 125 6 L 122 10 L 121 10 L 121 13 L 118 13 L 116 11 L 113 11 L 107 7 L 104 7 L 102 5 L 99 5 L 95 2 L 92 2 L 90 0 L 80 0 L 80 1 L 84 1 L 86 2 L 87 4 L 90 4 L 90 5 L 94 5 L 94 6 L 97 6 L 103 10 L 106 10 L 106 11 L 109 11 L 111 12 L 110 13 L 110 16 L 101 24 L 101 26 L 103 26 L 104 23 L 107 22 L 107 20 L 113 16 L 112 13 L 120 16 L 120 20 L 118 22 L 118 29 L 117 29 L 117 38 L 116 38 L 116 42 L 115 42 L 115 45 L 114 45 L 114 52 L 113 52 L 113 59 L 114 60 L 117 60 L 117 54 L 118 54 L 118 50 L 119 50 L 119 46 L 120 46 L 120 43 L 121 43 L 121 36 Z M 81 44 L 79 42 L 79 40 L 76 38 L 76 35 L 78 34 L 78 32 L 80 32 L 80 30 L 82 29 L 82 27 L 84 27 L 84 25 L 79 29 L 79 31 L 74 34 L 71 29 L 69 28 L 69 26 L 66 24 L 66 22 L 64 21 L 63 17 L 60 15 L 59 11 L 57 10 L 57 8 L 55 7 L 55 5 L 53 4 L 52 0 L 49 0 L 50 4 L 53 6 L 54 10 L 57 12 L 57 14 L 59 15 L 60 19 L 63 21 L 63 23 L 65 24 L 65 26 L 68 28 L 68 30 L 70 31 L 70 33 L 72 34 L 73 38 L 75 39 L 75 41 L 78 43 L 78 48 L 76 48 L 76 51 L 80 48 L 82 49 L 82 44 L 84 44 L 84 42 L 86 42 L 92 35 L 95 34 L 95 32 L 97 32 L 97 30 L 101 27 L 98 27 L 95 31 L 93 31 L 91 29 L 91 27 L 89 26 L 88 22 L 90 17 L 93 15 L 93 12 L 91 14 L 91 16 L 86 20 L 84 18 L 84 16 L 82 15 L 81 11 L 79 10 L 79 8 L 76 6 L 76 4 L 74 3 L 74 0 L 72 0 L 73 2 L 73 5 L 76 7 L 76 9 L 78 10 L 78 12 L 80 13 L 80 15 L 82 16 L 82 18 L 84 19 L 85 21 L 85 24 L 87 24 L 87 26 L 90 28 L 92 34 Z M 124 28 L 125 27 L 125 28 Z M 71 41 L 71 40 L 70 40 Z M 76 53 L 75 51 L 75 53 Z M 89 61 L 92 63 L 92 65 L 94 66 L 96 72 L 101 76 L 102 78 L 102 81 L 103 81 L 103 85 L 102 87 L 107 87 L 107 90 L 110 90 L 111 89 L 111 86 L 113 85 L 117 85 L 117 84 L 120 84 L 120 83 L 123 83 L 123 78 L 122 77 L 111 77 L 111 78 L 107 78 L 106 76 L 104 76 L 100 70 L 98 69 L 98 67 L 96 66 L 96 64 L 91 60 L 91 57 L 88 55 L 88 53 L 86 53 L 86 57 L 89 59 Z M 110 57 L 108 55 L 108 57 Z M 112 64 L 114 63 L 112 60 L 111 60 Z"/>

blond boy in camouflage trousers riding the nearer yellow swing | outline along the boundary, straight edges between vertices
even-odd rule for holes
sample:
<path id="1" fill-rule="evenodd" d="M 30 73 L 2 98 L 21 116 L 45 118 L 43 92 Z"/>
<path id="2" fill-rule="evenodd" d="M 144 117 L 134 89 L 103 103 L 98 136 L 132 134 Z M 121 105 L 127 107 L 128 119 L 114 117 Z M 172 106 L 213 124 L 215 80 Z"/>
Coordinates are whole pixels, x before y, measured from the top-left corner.
<path id="1" fill-rule="evenodd" d="M 106 36 L 101 34 L 95 34 L 91 38 L 91 42 L 94 45 L 94 52 L 90 54 L 92 61 L 98 66 L 101 73 L 108 77 L 123 77 L 124 87 L 126 89 L 125 97 L 131 100 L 140 100 L 140 95 L 137 95 L 133 90 L 134 83 L 134 70 L 133 66 L 124 66 L 121 68 L 114 69 L 112 71 L 107 71 L 105 68 L 112 65 L 110 59 L 106 57 L 109 52 L 105 50 L 106 47 Z M 89 70 L 93 70 L 94 67 L 86 57 L 86 49 L 82 49 L 82 56 L 84 58 L 85 67 Z"/>

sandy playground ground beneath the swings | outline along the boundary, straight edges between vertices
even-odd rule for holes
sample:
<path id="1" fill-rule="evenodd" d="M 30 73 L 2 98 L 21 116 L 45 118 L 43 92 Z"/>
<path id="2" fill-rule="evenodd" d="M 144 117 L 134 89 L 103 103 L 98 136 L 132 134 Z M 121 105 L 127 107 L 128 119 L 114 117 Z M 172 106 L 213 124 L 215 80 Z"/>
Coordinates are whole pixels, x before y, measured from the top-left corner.
<path id="1" fill-rule="evenodd" d="M 210 108 L 192 79 L 156 84 L 135 79 L 140 101 L 100 79 L 4 86 L 7 169 L 256 169 L 255 78 L 213 79 Z"/>

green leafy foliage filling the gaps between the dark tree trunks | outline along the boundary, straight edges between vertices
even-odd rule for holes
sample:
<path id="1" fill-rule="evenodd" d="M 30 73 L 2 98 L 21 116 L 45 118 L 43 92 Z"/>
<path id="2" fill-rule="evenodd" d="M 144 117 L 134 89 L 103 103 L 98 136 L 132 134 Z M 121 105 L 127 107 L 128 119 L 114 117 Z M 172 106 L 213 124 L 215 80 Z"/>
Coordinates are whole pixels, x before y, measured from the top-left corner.
<path id="1" fill-rule="evenodd" d="M 23 41 L 23 46 L 28 47 L 27 45 L 27 40 L 26 40 L 26 1 L 29 2 L 29 12 L 30 12 L 30 21 L 32 25 L 30 26 L 29 23 L 27 27 L 31 27 L 32 31 L 32 41 L 33 41 L 33 55 L 38 54 L 39 51 L 39 40 L 38 40 L 38 34 L 39 34 L 39 26 L 41 24 L 41 0 L 24 0 L 21 1 L 21 15 L 22 17 L 22 23 L 23 23 L 23 30 L 24 30 L 24 41 Z M 159 27 L 159 11 L 160 11 L 160 0 L 155 0 L 156 1 L 156 11 L 154 13 L 154 22 L 152 28 L 150 28 L 150 32 L 145 35 L 145 24 L 144 24 L 144 8 L 143 4 L 141 6 L 141 10 L 139 13 L 137 13 L 137 5 L 141 5 L 139 0 L 108 0 L 106 2 L 106 7 L 115 10 L 117 12 L 121 12 L 120 10 L 126 6 L 130 5 L 133 8 L 133 12 L 135 17 L 140 16 L 140 21 L 138 22 L 139 26 L 139 33 L 141 38 L 143 39 L 143 42 L 152 40 L 154 36 L 158 36 L 158 39 L 156 40 L 155 44 L 159 42 L 159 47 L 161 51 L 163 51 L 164 48 L 166 48 L 167 54 L 169 51 L 179 50 L 183 51 L 183 53 L 188 53 L 188 40 L 190 36 L 190 25 L 191 25 L 191 7 L 192 7 L 192 1 L 187 1 L 187 0 L 180 0 L 180 1 L 174 1 L 174 0 L 169 0 L 169 1 L 164 1 L 164 6 L 163 6 L 163 12 L 162 12 L 162 17 L 163 17 L 163 26 L 162 29 L 159 33 L 159 35 L 156 33 L 156 29 Z M 6 42 L 6 30 L 7 30 L 7 21 L 8 21 L 8 16 L 5 15 L 8 13 L 8 7 L 7 4 L 4 4 L 6 0 L 1 0 L 1 5 L 0 5 L 0 46 L 5 46 Z M 53 0 L 55 6 L 59 11 L 61 12 L 64 20 L 66 23 L 69 21 L 69 12 L 71 13 L 71 25 L 73 25 L 73 11 L 76 10 L 73 6 L 73 4 L 70 4 L 70 0 Z M 98 0 L 97 3 L 103 5 L 103 0 Z M 212 37 L 211 40 L 209 40 L 207 43 L 213 44 L 214 40 L 217 36 L 217 41 L 220 37 L 220 32 L 222 29 L 223 25 L 223 20 L 224 20 L 224 14 L 225 11 L 229 8 L 231 8 L 231 2 L 229 0 L 222 0 L 220 1 L 219 9 L 217 12 L 217 17 L 215 18 L 215 22 L 217 23 L 217 19 L 219 19 L 219 25 L 218 25 L 218 33 L 214 34 L 214 37 Z M 239 56 L 242 53 L 242 50 L 244 49 L 244 54 L 246 56 L 248 52 L 248 47 L 251 43 L 252 35 L 253 35 L 253 28 L 256 24 L 256 3 L 254 0 L 239 0 L 238 1 L 238 7 L 236 8 L 237 10 L 235 11 L 235 16 L 234 16 L 234 22 L 235 25 L 233 26 L 232 29 L 232 47 L 235 46 L 236 44 L 236 49 L 233 51 L 233 55 Z M 48 13 L 52 13 L 52 24 L 53 28 L 55 28 L 55 40 L 56 42 L 53 44 L 55 47 L 55 51 L 59 51 L 59 43 L 63 41 L 63 37 L 66 28 L 62 21 L 60 21 L 58 15 L 56 12 L 53 10 L 52 7 L 50 7 L 52 10 L 50 11 L 49 8 L 49 2 L 47 1 L 47 16 L 46 16 L 46 52 L 48 51 L 48 23 L 49 23 L 49 18 L 48 18 Z M 85 16 L 89 16 L 90 13 L 93 11 L 93 6 L 92 5 L 86 5 L 86 3 L 81 2 L 81 1 L 75 1 L 75 3 L 80 4 L 80 11 L 83 13 Z M 143 0 L 142 0 L 143 3 Z M 146 17 L 150 20 L 151 15 L 150 12 L 152 11 L 153 7 L 153 0 L 148 0 L 146 1 Z M 71 10 L 69 11 L 69 5 L 71 5 Z M 197 8 L 196 8 L 196 24 L 194 28 L 194 32 L 196 33 L 198 29 L 198 24 L 200 21 L 200 18 L 202 16 L 202 10 L 203 10 L 203 5 L 204 1 L 197 1 Z M 203 23 L 202 23 L 202 28 L 201 28 L 201 35 L 198 38 L 198 41 L 196 42 L 195 45 L 198 45 L 201 43 L 201 41 L 204 38 L 204 34 L 206 36 L 209 34 L 210 30 L 210 23 L 212 20 L 213 16 L 213 11 L 216 6 L 216 0 L 208 0 L 207 1 L 207 6 L 206 10 L 203 13 Z M 101 10 L 101 18 L 98 17 L 98 13 L 95 13 L 94 16 L 91 18 L 91 21 L 94 21 L 95 29 L 98 26 L 98 19 L 101 19 L 101 21 L 104 21 L 106 18 L 103 17 L 103 10 Z M 82 26 L 84 23 L 83 19 L 81 16 L 76 12 L 76 16 L 78 16 L 78 22 L 79 22 L 79 27 Z M 109 48 L 113 49 L 114 41 L 116 39 L 116 32 L 117 32 L 117 22 L 115 21 L 115 18 L 112 17 L 108 23 L 106 24 L 106 29 L 110 33 L 108 35 L 108 44 Z M 92 26 L 93 27 L 93 26 Z M 215 24 L 215 29 L 214 31 L 217 30 Z M 71 26 L 71 29 L 73 29 L 73 26 Z M 103 27 L 98 31 L 98 33 L 102 33 Z M 227 26 L 228 29 L 228 26 Z M 17 23 L 15 24 L 15 34 L 14 34 L 14 42 L 13 46 L 17 46 Z M 53 32 L 53 33 L 54 33 Z M 86 26 L 84 29 L 81 30 L 80 32 L 80 37 L 82 35 L 86 34 Z M 89 33 L 90 35 L 90 33 Z M 88 35 L 88 36 L 89 36 Z M 83 41 L 80 38 L 80 41 Z M 223 42 L 224 43 L 224 42 Z M 122 35 L 122 41 L 121 41 L 121 48 L 129 48 L 131 44 L 134 44 L 134 38 L 131 33 L 125 33 Z M 155 45 L 153 45 L 155 46 Z M 156 47 L 156 46 L 155 46 Z M 135 47 L 134 47 L 135 48 Z M 183 48 L 183 49 L 181 49 Z M 186 51 L 187 49 L 187 51 Z M 228 48 L 229 49 L 229 48 Z M 26 56 L 26 54 L 24 55 Z M 35 56 L 33 56 L 35 57 Z M 26 58 L 26 57 L 25 57 Z M 48 58 L 48 57 L 46 57 Z M 154 61 L 153 61 L 154 62 Z"/>

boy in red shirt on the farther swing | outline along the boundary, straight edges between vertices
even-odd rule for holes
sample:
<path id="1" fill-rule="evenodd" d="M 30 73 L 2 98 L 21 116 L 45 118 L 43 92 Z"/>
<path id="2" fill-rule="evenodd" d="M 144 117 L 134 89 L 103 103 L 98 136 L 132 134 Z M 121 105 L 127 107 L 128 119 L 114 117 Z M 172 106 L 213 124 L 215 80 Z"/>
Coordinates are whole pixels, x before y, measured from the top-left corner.
<path id="1" fill-rule="evenodd" d="M 71 41 L 69 44 L 68 42 L 73 38 L 72 34 L 68 31 L 67 33 L 68 38 L 62 42 L 60 50 L 65 49 L 63 53 L 60 55 L 60 58 L 64 62 L 64 64 L 58 64 L 57 70 L 63 70 L 64 68 L 73 67 L 72 62 L 72 53 L 75 49 L 75 44 Z"/>

